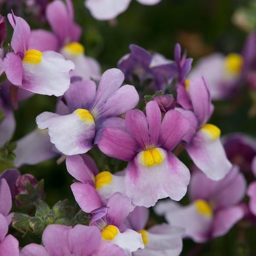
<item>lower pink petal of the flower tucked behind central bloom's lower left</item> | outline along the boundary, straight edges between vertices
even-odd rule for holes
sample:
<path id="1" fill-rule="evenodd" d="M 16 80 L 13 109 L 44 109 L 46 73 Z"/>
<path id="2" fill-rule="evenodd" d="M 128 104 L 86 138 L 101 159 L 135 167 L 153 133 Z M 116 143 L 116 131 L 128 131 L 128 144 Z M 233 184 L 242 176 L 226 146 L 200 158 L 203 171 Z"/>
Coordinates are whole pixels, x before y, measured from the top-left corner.
<path id="1" fill-rule="evenodd" d="M 91 212 L 102 206 L 96 189 L 88 184 L 75 182 L 71 185 L 76 202 L 84 212 Z"/>

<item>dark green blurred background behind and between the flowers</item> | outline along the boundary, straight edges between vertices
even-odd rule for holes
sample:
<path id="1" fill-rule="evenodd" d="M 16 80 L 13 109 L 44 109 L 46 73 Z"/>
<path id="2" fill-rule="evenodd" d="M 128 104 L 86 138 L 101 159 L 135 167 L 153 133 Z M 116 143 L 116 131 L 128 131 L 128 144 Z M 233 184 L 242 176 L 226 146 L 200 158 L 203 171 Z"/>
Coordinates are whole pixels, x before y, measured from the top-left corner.
<path id="1" fill-rule="evenodd" d="M 50 2 L 50 1 L 49 1 Z M 49 29 L 44 17 L 47 0 L 0 0 L 0 13 L 6 16 L 10 9 L 23 17 L 32 29 Z M 73 0 L 75 20 L 83 29 L 81 44 L 85 54 L 96 58 L 102 71 L 116 67 L 117 61 L 129 52 L 129 44 L 137 44 L 150 52 L 159 52 L 173 59 L 175 43 L 179 42 L 188 52 L 188 57 L 197 59 L 212 52 L 240 52 L 248 32 L 256 28 L 256 1 L 247 0 L 162 0 L 156 6 L 143 6 L 132 0 L 126 12 L 115 20 L 98 21 L 84 7 L 84 0 Z M 7 43 L 12 37 L 8 24 Z M 17 129 L 13 141 L 32 131 L 35 117 L 43 111 L 55 110 L 55 97 L 35 95 L 20 102 L 15 111 Z M 255 136 L 256 119 L 248 117 L 251 107 L 250 95 L 243 90 L 239 97 L 228 101 L 214 102 L 215 113 L 211 123 L 221 128 L 222 134 L 244 132 Z M 27 145 L 29 147 L 29 145 Z M 121 170 L 126 163 L 90 151 L 99 170 Z M 191 163 L 186 153 L 180 155 L 185 163 Z M 8 166 L 2 165 L 1 171 Z M 24 166 L 21 173 L 31 173 L 45 180 L 46 201 L 49 205 L 68 198 L 74 205 L 70 184 L 72 177 L 67 173 L 65 163 L 56 165 L 56 159 L 36 166 Z M 182 203 L 187 204 L 188 198 Z M 152 212 L 150 224 L 163 219 Z M 195 244 L 184 240 L 182 255 L 256 255 L 256 228 L 236 225 L 226 236 Z"/>

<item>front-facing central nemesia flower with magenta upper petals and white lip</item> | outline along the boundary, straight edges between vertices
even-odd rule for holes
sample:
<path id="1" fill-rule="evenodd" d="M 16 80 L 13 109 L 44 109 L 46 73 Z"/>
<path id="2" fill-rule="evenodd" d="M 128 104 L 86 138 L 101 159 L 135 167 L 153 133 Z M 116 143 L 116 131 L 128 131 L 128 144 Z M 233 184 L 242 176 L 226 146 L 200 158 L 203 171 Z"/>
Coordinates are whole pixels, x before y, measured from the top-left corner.
<path id="1" fill-rule="evenodd" d="M 105 128 L 98 146 L 110 157 L 128 161 L 125 194 L 137 206 L 153 206 L 158 199 L 180 200 L 186 194 L 190 174 L 170 151 L 186 135 L 189 123 L 178 111 L 169 110 L 161 122 L 157 102 L 146 105 L 146 116 L 129 111 L 125 128 Z M 124 126 L 124 125 L 123 125 Z"/>

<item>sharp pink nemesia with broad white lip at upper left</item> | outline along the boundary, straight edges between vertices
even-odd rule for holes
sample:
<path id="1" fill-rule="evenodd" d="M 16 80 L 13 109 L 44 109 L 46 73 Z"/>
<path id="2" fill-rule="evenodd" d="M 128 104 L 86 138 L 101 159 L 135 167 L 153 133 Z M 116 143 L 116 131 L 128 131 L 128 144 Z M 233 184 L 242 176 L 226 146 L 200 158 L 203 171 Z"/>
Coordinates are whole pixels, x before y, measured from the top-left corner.
<path id="1" fill-rule="evenodd" d="M 29 49 L 30 27 L 25 20 L 8 15 L 14 33 L 12 49 L 3 60 L 7 79 L 33 93 L 61 96 L 70 85 L 72 61 L 53 51 Z"/>

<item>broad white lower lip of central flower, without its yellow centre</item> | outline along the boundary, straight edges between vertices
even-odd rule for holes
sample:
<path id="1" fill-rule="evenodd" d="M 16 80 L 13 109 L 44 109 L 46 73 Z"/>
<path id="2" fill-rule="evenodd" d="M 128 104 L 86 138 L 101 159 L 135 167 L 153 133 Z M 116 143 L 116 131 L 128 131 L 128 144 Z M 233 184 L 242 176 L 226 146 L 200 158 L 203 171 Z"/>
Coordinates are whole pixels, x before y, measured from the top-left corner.
<path id="1" fill-rule="evenodd" d="M 157 149 L 163 157 L 160 164 L 145 166 L 141 153 L 128 163 L 125 192 L 137 206 L 151 207 L 166 197 L 179 201 L 186 194 L 189 169 L 172 153 Z"/>

